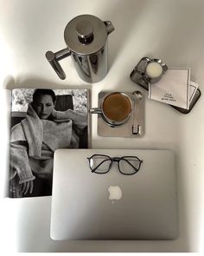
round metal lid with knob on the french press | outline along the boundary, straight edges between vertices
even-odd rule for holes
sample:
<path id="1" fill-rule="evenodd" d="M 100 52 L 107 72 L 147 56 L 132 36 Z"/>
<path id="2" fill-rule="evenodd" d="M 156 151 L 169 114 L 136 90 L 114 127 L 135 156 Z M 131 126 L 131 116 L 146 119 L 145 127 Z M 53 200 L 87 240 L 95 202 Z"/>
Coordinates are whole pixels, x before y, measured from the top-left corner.
<path id="1" fill-rule="evenodd" d="M 78 55 L 90 55 L 103 49 L 107 36 L 105 23 L 92 15 L 74 17 L 64 31 L 68 49 Z"/>

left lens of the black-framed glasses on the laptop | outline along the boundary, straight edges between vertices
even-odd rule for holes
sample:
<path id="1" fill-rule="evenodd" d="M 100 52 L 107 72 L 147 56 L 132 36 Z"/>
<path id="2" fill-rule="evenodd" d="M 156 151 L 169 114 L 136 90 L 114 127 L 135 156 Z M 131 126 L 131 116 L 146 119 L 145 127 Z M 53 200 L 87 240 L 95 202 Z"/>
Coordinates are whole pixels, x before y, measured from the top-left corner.
<path id="1" fill-rule="evenodd" d="M 106 155 L 93 155 L 90 160 L 90 167 L 95 173 L 104 174 L 106 173 L 112 163 L 111 159 Z"/>

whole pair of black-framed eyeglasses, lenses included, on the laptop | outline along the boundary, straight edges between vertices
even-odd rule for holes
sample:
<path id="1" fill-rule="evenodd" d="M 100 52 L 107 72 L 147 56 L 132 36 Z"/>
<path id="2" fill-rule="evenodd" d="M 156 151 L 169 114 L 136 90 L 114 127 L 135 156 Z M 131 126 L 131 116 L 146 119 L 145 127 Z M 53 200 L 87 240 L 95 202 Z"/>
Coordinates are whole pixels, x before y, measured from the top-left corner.
<path id="1" fill-rule="evenodd" d="M 143 163 L 137 156 L 110 157 L 105 154 L 93 154 L 87 157 L 92 173 L 106 174 L 110 171 L 113 161 L 118 162 L 118 170 L 121 174 L 136 174 Z"/>

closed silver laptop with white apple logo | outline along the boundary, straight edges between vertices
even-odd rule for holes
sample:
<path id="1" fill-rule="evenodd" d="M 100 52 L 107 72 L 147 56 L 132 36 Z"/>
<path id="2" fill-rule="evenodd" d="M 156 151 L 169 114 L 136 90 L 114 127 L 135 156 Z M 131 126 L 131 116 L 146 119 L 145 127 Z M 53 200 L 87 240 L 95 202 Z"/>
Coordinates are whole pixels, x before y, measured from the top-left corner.
<path id="1" fill-rule="evenodd" d="M 54 240 L 174 240 L 175 155 L 58 149 L 50 235 Z"/>

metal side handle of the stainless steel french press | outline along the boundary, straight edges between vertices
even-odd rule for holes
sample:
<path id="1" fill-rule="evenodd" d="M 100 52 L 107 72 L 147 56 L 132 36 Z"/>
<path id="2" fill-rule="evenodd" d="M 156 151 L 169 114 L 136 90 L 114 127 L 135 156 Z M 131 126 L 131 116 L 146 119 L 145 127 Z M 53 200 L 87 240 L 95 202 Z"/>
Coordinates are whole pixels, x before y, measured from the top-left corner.
<path id="1" fill-rule="evenodd" d="M 60 61 L 70 55 L 71 55 L 71 51 L 68 50 L 67 48 L 61 49 L 55 53 L 52 52 L 51 50 L 48 50 L 47 53 L 45 54 L 48 62 L 53 67 L 56 74 L 62 80 L 64 80 L 66 78 L 66 75 L 65 75 L 64 70 L 61 68 Z"/>

